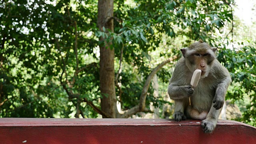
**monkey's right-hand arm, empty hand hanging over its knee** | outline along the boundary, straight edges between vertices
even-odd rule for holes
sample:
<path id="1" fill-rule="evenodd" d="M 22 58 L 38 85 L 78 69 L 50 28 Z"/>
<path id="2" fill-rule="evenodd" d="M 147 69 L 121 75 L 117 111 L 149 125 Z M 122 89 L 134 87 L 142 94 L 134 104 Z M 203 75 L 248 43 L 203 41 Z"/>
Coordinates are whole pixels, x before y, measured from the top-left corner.
<path id="1" fill-rule="evenodd" d="M 216 110 L 219 110 L 220 108 L 222 108 L 225 102 L 226 92 L 232 80 L 230 78 L 228 70 L 224 68 L 219 62 L 217 64 L 218 65 L 215 66 L 215 70 L 217 70 L 216 76 L 220 80 L 220 82 L 217 85 L 215 96 L 212 102 L 215 103 L 213 107 L 216 108 Z"/>

